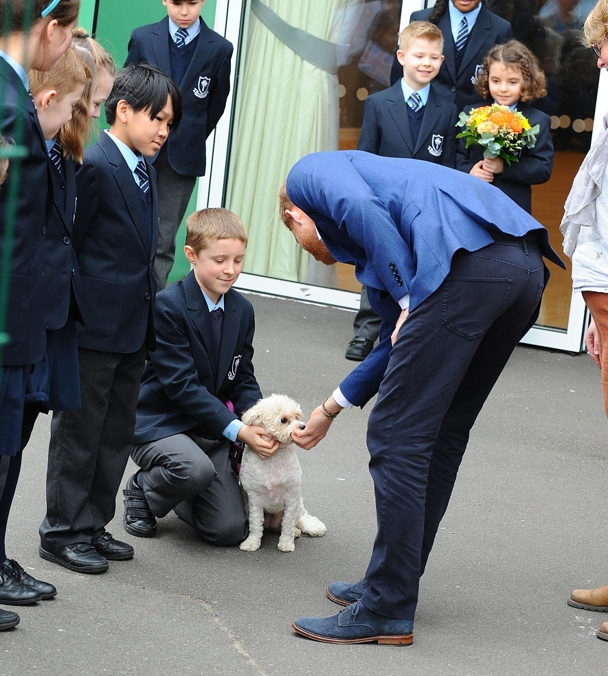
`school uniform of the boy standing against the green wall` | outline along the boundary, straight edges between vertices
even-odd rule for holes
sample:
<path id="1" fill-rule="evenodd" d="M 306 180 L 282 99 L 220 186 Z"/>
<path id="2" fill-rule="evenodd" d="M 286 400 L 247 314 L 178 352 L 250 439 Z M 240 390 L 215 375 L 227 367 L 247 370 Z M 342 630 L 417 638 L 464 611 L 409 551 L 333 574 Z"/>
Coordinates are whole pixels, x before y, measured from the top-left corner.
<path id="1" fill-rule="evenodd" d="M 205 142 L 224 112 L 230 91 L 233 47 L 202 19 L 188 29 L 185 44 L 174 38 L 177 26 L 168 16 L 139 27 L 128 43 L 129 63 L 150 63 L 170 76 L 183 94 L 177 131 L 154 160 L 158 174 L 160 231 L 155 261 L 159 289 L 166 285 L 181 224 L 196 177 L 205 175 Z M 177 39 L 177 42 L 176 42 Z"/>

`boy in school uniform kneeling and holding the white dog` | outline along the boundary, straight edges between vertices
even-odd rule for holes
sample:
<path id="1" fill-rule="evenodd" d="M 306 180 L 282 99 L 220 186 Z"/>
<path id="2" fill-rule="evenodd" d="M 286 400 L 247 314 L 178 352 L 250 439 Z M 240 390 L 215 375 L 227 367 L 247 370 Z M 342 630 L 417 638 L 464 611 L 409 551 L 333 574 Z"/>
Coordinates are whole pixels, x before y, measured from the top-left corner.
<path id="1" fill-rule="evenodd" d="M 123 491 L 124 528 L 137 537 L 154 537 L 157 517 L 172 509 L 216 545 L 247 537 L 231 442 L 262 458 L 279 444 L 239 420 L 262 398 L 251 363 L 254 308 L 232 289 L 245 247 L 232 212 L 194 212 L 184 247 L 193 269 L 157 295 L 157 349 L 142 377 L 131 451 L 141 469 Z"/>

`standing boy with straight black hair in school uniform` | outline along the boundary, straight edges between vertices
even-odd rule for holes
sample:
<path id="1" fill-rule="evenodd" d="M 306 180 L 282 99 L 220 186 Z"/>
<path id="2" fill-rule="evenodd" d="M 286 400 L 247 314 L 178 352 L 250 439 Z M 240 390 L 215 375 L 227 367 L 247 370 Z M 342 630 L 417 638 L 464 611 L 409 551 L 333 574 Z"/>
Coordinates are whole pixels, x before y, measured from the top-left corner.
<path id="1" fill-rule="evenodd" d="M 133 443 L 146 351 L 155 346 L 158 196 L 146 158 L 178 126 L 181 93 L 154 67 L 127 67 L 106 119 L 109 131 L 85 150 L 76 172 L 73 245 L 87 317 L 86 326 L 76 324 L 82 408 L 53 414 L 40 528 L 42 558 L 82 573 L 133 556 L 105 527 Z"/>

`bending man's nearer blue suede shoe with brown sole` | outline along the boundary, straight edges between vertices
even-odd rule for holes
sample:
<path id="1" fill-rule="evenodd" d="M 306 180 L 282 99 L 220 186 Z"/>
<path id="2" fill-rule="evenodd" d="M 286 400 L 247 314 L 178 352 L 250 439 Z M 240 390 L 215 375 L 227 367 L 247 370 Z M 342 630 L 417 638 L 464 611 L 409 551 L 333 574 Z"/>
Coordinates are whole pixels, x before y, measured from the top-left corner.
<path id="1" fill-rule="evenodd" d="M 300 618 L 292 624 L 297 633 L 324 643 L 371 643 L 410 646 L 414 642 L 414 620 L 397 620 L 377 615 L 361 601 L 330 618 Z"/>

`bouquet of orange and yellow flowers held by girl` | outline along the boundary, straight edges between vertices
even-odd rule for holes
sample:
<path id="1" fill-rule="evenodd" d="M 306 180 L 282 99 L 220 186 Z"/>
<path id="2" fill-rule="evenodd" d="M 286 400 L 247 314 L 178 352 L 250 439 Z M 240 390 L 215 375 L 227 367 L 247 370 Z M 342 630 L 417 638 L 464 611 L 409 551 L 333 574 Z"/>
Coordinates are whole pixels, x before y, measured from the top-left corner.
<path id="1" fill-rule="evenodd" d="M 456 138 L 466 139 L 467 148 L 482 146 L 484 157 L 502 157 L 509 166 L 519 161 L 522 148 L 534 148 L 540 128 L 538 124 L 531 127 L 519 111 L 498 104 L 460 113 L 456 126 L 464 127 Z"/>

